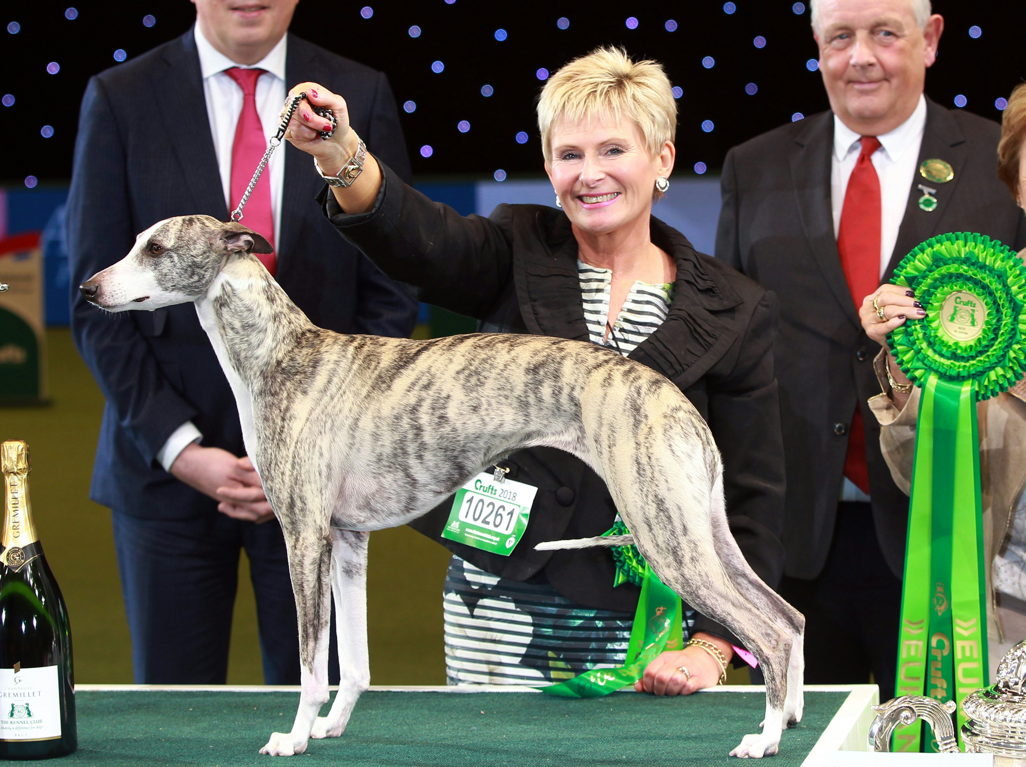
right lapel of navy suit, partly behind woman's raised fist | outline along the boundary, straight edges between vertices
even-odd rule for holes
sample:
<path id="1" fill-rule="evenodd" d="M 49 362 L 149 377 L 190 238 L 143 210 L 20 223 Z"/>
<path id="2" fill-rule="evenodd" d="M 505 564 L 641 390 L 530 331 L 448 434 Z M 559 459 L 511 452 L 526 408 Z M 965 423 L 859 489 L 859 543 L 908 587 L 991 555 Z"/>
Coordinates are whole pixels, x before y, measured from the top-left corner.
<path id="1" fill-rule="evenodd" d="M 330 72 L 322 65 L 311 46 L 294 35 L 288 36 L 285 53 L 286 92 L 295 83 L 326 82 Z M 278 251 L 278 278 L 289 268 L 290 256 L 303 229 L 304 209 L 315 207 L 314 197 L 324 183 L 314 171 L 313 160 L 286 141 L 278 151 L 285 153 L 285 186 L 281 194 L 281 232 L 276 242 Z"/>

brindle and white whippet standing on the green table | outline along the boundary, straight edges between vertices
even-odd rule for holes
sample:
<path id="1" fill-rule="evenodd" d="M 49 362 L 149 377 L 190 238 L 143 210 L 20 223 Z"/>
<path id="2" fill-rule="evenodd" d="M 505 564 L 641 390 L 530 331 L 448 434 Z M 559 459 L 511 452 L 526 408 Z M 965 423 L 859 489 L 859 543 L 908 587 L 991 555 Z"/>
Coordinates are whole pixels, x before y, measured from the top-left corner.
<path id="1" fill-rule="evenodd" d="M 777 752 L 781 730 L 801 718 L 804 618 L 745 562 L 727 528 L 712 434 L 676 386 L 580 341 L 322 330 L 254 252 L 271 246 L 241 224 L 167 219 L 80 290 L 111 312 L 194 302 L 235 393 L 246 453 L 284 531 L 300 622 L 299 712 L 291 732 L 273 733 L 263 753 L 301 754 L 310 737 L 341 735 L 369 685 L 369 531 L 417 519 L 529 446 L 591 466 L 633 534 L 539 547 L 635 542 L 664 583 L 733 630 L 760 663 L 762 732 L 731 753 Z M 342 682 L 318 717 L 328 700 L 332 592 Z"/>

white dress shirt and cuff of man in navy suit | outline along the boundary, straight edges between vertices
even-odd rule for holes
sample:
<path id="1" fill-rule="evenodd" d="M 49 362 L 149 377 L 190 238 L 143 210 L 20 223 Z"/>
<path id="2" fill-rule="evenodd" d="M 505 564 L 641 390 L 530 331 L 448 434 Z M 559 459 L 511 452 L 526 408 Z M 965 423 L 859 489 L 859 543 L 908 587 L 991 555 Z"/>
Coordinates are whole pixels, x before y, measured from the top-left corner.
<path id="1" fill-rule="evenodd" d="M 242 113 L 242 88 L 225 70 L 232 67 L 249 69 L 248 65 L 236 64 L 218 50 L 200 32 L 199 24 L 193 27 L 196 50 L 199 53 L 199 68 L 203 75 L 203 95 L 206 99 L 206 116 L 210 121 L 213 137 L 213 151 L 218 155 L 218 169 L 225 194 L 225 203 L 234 210 L 239 203 L 231 198 L 232 190 L 232 147 L 235 144 L 235 127 Z M 278 44 L 252 68 L 266 70 L 256 80 L 256 113 L 260 115 L 264 135 L 271 139 L 278 130 L 281 108 L 285 102 L 285 46 L 288 36 L 283 35 Z M 255 170 L 256 168 L 252 168 Z M 285 183 L 285 151 L 279 149 L 271 155 L 271 161 L 264 171 L 271 180 L 271 213 L 274 216 L 274 238 L 277 245 L 281 232 L 281 197 Z M 248 170 L 247 170 L 248 175 Z M 192 443 L 202 440 L 203 434 L 192 421 L 182 424 L 164 443 L 157 453 L 157 461 L 167 471 L 179 454 Z"/>

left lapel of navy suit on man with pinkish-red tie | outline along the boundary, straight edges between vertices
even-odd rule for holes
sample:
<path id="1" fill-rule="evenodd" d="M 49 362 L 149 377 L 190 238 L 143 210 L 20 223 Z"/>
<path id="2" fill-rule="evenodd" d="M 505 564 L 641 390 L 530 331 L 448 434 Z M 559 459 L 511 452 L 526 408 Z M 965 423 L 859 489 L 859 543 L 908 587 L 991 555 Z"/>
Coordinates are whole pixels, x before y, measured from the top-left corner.
<path id="1" fill-rule="evenodd" d="M 156 102 L 163 129 L 196 205 L 194 210 L 188 213 L 208 214 L 227 221 L 228 207 L 223 196 L 218 155 L 213 149 L 206 98 L 203 95 L 203 75 L 192 29 L 179 38 L 177 44 L 164 51 L 163 60 L 167 66 L 152 76 L 154 92 L 160 94 Z"/>

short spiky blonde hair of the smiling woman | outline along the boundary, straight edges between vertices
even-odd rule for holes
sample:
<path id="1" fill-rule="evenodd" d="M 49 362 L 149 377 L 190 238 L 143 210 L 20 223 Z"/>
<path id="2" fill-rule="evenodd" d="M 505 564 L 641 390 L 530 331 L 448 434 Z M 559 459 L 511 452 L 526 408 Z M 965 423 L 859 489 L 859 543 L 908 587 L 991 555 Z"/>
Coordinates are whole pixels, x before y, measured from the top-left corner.
<path id="1" fill-rule="evenodd" d="M 595 48 L 562 67 L 542 88 L 538 127 L 545 161 L 552 161 L 552 127 L 560 120 L 627 116 L 656 157 L 677 132 L 677 103 L 658 62 L 633 62 L 623 48 Z"/>

